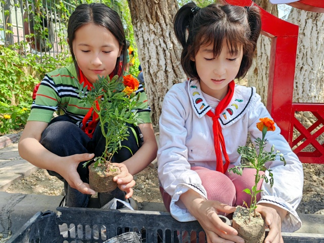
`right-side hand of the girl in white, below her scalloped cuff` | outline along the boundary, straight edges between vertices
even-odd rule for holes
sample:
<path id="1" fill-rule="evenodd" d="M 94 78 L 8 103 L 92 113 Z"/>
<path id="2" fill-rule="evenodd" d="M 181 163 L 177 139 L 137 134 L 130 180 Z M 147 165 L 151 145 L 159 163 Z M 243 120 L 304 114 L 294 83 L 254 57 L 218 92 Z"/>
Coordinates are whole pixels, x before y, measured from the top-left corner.
<path id="1" fill-rule="evenodd" d="M 259 212 L 269 228 L 265 243 L 284 243 L 281 236 L 281 221 L 287 215 L 287 211 L 272 204 L 258 204 Z"/>

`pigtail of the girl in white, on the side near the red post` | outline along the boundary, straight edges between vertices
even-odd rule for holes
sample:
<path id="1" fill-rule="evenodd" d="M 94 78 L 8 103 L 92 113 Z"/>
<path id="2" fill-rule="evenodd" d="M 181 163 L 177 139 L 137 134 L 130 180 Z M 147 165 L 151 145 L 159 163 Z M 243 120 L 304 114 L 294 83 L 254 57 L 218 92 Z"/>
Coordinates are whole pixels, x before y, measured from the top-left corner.
<path id="1" fill-rule="evenodd" d="M 261 16 L 257 6 L 245 7 L 247 11 L 248 22 L 251 30 L 250 41 L 254 44 L 253 50 L 257 46 L 257 41 L 261 31 Z"/>

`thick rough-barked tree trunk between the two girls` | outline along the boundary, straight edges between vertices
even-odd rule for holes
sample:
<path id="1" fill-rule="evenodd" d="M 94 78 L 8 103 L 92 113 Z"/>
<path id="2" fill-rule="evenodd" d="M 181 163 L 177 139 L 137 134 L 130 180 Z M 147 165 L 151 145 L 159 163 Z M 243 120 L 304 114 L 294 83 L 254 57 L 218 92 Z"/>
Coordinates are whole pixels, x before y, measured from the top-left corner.
<path id="1" fill-rule="evenodd" d="M 134 36 L 144 74 L 152 124 L 158 125 L 163 98 L 184 80 L 181 46 L 173 31 L 176 0 L 128 0 Z"/>

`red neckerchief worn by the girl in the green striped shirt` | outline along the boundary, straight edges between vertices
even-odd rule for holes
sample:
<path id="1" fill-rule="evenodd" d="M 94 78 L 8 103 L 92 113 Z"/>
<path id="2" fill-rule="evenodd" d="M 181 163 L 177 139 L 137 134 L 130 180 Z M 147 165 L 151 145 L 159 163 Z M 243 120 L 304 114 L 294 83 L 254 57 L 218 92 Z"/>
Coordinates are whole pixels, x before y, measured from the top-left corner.
<path id="1" fill-rule="evenodd" d="M 111 73 L 109 75 L 110 78 L 112 78 L 113 73 Z M 87 77 L 83 74 L 83 72 L 81 71 L 81 69 L 79 69 L 79 83 L 82 84 L 83 83 L 83 87 L 88 86 L 88 90 L 92 89 L 93 84 L 89 82 L 89 80 L 87 79 Z M 99 98 L 99 97 L 98 97 Z M 99 110 L 99 104 L 98 101 L 96 101 L 96 107 Z M 92 115 L 92 121 L 89 121 L 89 118 Z M 92 138 L 93 133 L 97 127 L 98 121 L 99 121 L 99 115 L 97 114 L 96 111 L 94 111 L 94 109 L 91 107 L 90 110 L 88 111 L 88 113 L 85 115 L 85 117 L 82 120 L 82 131 L 84 131 L 89 138 Z M 89 123 L 88 123 L 89 121 Z"/>

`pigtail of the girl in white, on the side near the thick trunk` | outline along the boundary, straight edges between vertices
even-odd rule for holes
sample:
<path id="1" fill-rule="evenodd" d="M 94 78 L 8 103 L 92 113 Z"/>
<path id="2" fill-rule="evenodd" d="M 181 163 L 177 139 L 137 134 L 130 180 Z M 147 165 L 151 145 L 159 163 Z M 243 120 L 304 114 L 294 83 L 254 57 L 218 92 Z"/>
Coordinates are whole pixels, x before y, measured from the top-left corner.
<path id="1" fill-rule="evenodd" d="M 181 46 L 186 45 L 186 31 L 189 29 L 189 24 L 194 16 L 196 4 L 191 2 L 182 6 L 177 12 L 174 19 L 174 32 Z"/>

